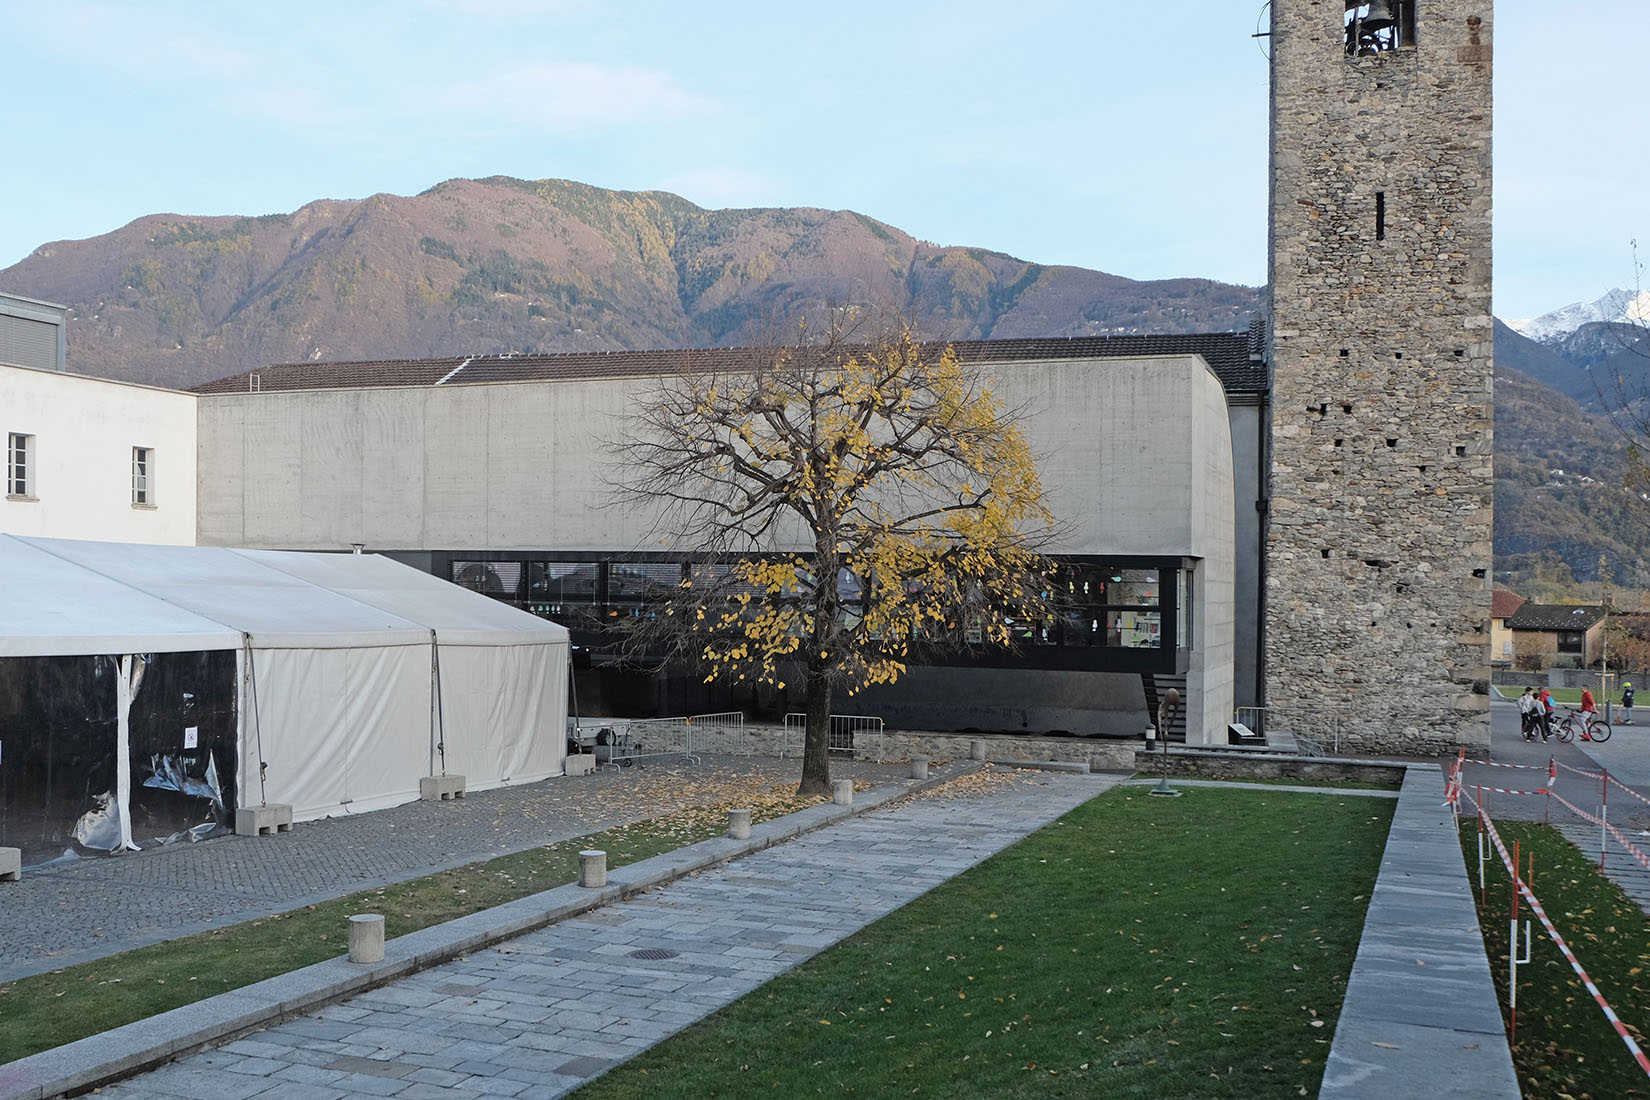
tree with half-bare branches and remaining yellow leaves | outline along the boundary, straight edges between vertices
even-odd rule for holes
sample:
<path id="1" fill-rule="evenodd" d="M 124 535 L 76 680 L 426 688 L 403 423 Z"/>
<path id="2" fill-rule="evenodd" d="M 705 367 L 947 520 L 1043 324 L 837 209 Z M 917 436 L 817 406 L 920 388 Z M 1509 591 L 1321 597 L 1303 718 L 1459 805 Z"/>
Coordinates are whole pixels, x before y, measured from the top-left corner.
<path id="1" fill-rule="evenodd" d="M 1053 599 L 1053 528 L 1016 417 L 908 328 L 752 351 L 644 399 L 620 500 L 696 562 L 639 648 L 706 681 L 802 676 L 802 793 L 830 790 L 837 688 L 939 650 L 1010 645 Z"/>

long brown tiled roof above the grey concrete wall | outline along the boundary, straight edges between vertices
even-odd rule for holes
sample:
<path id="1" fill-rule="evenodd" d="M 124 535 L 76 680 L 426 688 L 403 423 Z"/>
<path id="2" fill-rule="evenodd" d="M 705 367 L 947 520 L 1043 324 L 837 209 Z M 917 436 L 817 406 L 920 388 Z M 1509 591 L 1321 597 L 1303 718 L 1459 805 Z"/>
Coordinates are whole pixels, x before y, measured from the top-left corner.
<path id="1" fill-rule="evenodd" d="M 1163 336 L 1072 336 L 1031 340 L 957 340 L 965 363 L 1011 360 L 1094 360 L 1201 355 L 1226 391 L 1266 391 L 1266 364 L 1251 356 L 1249 333 Z M 673 348 L 662 351 L 573 351 L 564 355 L 475 355 L 441 360 L 368 360 L 356 363 L 277 363 L 196 386 L 198 394 L 282 389 L 355 389 L 365 386 L 464 386 L 477 383 L 630 378 L 686 371 L 738 371 L 771 355 L 766 348 Z"/>

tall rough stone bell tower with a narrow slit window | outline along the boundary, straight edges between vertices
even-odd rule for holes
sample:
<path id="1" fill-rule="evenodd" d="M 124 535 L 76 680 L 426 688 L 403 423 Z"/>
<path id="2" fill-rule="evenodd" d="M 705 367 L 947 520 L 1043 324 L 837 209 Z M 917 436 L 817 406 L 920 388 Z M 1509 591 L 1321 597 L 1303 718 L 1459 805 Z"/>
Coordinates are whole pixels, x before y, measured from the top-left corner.
<path id="1" fill-rule="evenodd" d="M 1490 28 L 1272 0 L 1266 703 L 1343 749 L 1488 742 Z"/>

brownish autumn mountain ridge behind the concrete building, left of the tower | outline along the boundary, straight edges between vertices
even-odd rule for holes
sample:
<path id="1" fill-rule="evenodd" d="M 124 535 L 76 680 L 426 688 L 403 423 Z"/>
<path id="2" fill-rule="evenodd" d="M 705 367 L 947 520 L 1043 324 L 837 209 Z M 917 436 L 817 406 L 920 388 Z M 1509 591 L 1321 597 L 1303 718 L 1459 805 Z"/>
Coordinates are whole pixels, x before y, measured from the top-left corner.
<path id="1" fill-rule="evenodd" d="M 0 287 L 71 307 L 71 369 L 188 388 L 304 360 L 761 343 L 837 305 L 975 340 L 1239 330 L 1259 290 L 936 246 L 856 211 L 447 180 L 257 218 L 147 214 Z"/>

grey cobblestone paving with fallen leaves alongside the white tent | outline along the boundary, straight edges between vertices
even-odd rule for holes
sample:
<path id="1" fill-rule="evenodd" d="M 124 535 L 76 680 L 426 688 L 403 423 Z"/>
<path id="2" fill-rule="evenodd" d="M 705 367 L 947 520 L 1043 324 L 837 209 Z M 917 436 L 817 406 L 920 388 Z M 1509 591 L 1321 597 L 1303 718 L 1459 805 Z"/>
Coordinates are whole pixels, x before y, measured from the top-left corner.
<path id="1" fill-rule="evenodd" d="M 883 785 L 904 778 L 909 765 L 833 760 L 832 773 Z M 799 762 L 762 757 L 602 769 L 307 821 L 277 836 L 219 836 L 33 867 L 21 882 L 0 882 L 0 981 L 747 797 L 759 787 L 795 787 L 799 775 Z"/>

